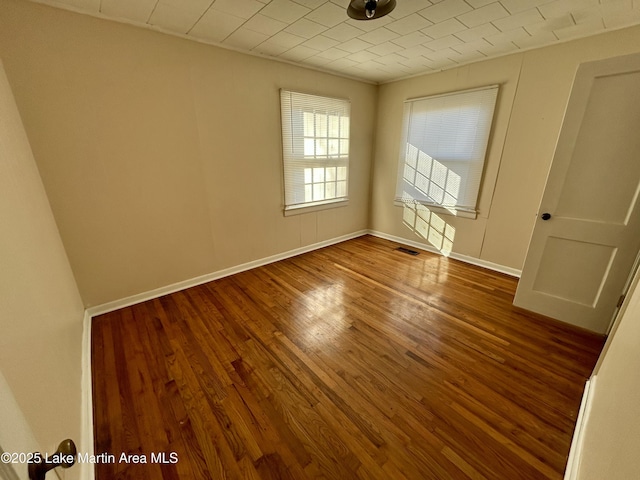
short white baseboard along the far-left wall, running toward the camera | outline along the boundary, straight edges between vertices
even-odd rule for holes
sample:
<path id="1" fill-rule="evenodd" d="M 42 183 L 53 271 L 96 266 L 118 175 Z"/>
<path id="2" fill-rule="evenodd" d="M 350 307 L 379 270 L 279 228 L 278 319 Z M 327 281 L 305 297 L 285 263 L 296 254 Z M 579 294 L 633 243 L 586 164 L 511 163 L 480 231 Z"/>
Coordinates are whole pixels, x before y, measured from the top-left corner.
<path id="1" fill-rule="evenodd" d="M 91 315 L 88 311 L 84 312 L 84 320 L 82 322 L 82 404 L 80 412 L 81 431 L 80 445 L 78 453 L 94 454 L 93 450 L 93 392 L 91 385 Z M 90 462 L 82 462 L 79 465 L 79 478 L 83 480 L 94 480 L 95 467 Z"/>

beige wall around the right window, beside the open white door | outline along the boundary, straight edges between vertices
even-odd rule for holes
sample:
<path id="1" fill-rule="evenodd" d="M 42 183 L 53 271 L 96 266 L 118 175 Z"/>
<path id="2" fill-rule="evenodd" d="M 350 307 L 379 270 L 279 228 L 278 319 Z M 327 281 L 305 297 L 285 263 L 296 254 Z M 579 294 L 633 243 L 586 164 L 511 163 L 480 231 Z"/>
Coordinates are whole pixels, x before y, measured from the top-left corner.
<path id="1" fill-rule="evenodd" d="M 454 252 L 521 269 L 578 64 L 639 51 L 640 28 L 634 27 L 382 85 L 371 228 L 430 244 L 403 221 L 403 208 L 393 206 L 402 102 L 498 83 L 479 216 L 438 214 L 436 221 L 455 229 Z"/>

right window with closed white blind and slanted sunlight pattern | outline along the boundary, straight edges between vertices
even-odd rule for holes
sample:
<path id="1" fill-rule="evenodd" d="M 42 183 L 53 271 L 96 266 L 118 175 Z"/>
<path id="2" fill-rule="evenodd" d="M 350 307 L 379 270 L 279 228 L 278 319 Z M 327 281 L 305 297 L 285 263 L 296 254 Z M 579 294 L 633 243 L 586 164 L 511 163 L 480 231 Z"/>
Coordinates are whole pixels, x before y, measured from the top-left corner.
<path id="1" fill-rule="evenodd" d="M 497 94 L 496 85 L 405 102 L 396 202 L 475 218 Z"/>

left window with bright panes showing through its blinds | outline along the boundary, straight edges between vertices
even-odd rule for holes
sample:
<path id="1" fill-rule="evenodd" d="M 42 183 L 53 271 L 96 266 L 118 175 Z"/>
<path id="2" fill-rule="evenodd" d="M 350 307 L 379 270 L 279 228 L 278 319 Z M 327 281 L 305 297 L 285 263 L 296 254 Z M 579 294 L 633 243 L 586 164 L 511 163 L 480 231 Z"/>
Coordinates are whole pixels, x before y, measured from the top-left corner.
<path id="1" fill-rule="evenodd" d="M 349 180 L 348 100 L 280 91 L 285 214 L 344 204 Z"/>

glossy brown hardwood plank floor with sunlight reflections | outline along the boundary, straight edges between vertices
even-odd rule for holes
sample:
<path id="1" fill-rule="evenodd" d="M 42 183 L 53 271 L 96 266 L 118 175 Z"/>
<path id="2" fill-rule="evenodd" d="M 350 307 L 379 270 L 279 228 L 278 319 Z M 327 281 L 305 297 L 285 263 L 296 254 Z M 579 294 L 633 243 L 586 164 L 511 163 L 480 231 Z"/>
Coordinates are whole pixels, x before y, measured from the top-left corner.
<path id="1" fill-rule="evenodd" d="M 396 247 L 94 318 L 98 480 L 562 478 L 603 338 L 514 308 L 511 277 Z"/>

